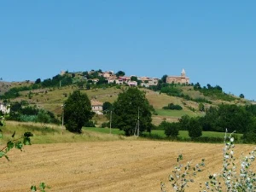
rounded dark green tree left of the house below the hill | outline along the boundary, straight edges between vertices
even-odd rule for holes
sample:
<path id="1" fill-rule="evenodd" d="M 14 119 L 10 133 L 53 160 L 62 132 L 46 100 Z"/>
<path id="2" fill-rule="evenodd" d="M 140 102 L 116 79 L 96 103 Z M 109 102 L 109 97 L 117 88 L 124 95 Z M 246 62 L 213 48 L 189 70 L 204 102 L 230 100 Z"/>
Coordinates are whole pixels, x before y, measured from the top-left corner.
<path id="1" fill-rule="evenodd" d="M 73 91 L 64 103 L 64 124 L 71 132 L 81 133 L 82 127 L 92 118 L 90 100 L 80 90 Z"/>

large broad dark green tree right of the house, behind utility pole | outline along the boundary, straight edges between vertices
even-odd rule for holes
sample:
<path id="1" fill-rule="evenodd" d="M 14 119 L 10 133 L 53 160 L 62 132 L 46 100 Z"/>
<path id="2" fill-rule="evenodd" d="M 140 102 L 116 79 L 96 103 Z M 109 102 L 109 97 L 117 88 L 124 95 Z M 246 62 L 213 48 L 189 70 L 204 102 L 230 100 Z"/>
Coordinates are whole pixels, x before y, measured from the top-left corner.
<path id="1" fill-rule="evenodd" d="M 152 115 L 150 105 L 145 93 L 137 88 L 129 88 L 119 94 L 113 103 L 113 127 L 125 131 L 126 136 L 131 136 L 137 126 L 139 113 L 139 131 L 151 131 Z"/>

